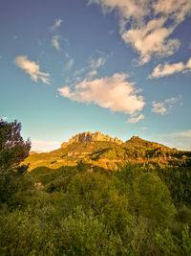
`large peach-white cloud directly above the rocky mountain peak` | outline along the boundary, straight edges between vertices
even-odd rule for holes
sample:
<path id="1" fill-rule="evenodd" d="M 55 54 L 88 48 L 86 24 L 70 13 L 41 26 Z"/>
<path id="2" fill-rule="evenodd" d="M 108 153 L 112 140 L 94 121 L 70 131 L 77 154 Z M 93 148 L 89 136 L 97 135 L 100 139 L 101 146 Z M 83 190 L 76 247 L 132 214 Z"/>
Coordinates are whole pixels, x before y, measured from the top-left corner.
<path id="1" fill-rule="evenodd" d="M 72 91 L 69 86 L 59 88 L 59 93 L 66 98 L 79 103 L 95 103 L 113 111 L 120 111 L 126 114 L 135 114 L 142 110 L 145 105 L 142 96 L 133 82 L 126 81 L 126 74 L 114 74 L 112 77 L 84 80 L 74 85 Z"/>

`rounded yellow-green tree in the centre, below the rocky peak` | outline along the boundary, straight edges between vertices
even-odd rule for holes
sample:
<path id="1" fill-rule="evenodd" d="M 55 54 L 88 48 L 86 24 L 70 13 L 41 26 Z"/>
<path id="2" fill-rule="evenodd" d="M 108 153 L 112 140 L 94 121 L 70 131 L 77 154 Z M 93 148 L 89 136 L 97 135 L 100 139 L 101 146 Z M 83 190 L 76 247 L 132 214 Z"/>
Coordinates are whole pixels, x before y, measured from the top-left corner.
<path id="1" fill-rule="evenodd" d="M 92 209 L 96 216 L 104 214 L 113 230 L 122 230 L 127 224 L 128 198 L 118 193 L 107 175 L 78 173 L 72 178 L 67 193 L 70 195 L 68 205 L 82 205 L 83 209 Z"/>

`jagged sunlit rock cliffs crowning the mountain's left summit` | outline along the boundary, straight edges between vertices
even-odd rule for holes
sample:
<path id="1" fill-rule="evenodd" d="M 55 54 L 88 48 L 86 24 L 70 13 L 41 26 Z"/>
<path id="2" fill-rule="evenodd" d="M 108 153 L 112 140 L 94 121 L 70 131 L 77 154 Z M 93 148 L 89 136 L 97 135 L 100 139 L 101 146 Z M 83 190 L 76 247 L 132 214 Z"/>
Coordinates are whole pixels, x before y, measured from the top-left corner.
<path id="1" fill-rule="evenodd" d="M 90 131 L 85 131 L 82 133 L 78 133 L 74 135 L 69 142 L 64 142 L 61 147 L 65 148 L 67 144 L 71 144 L 74 142 L 83 142 L 83 141 L 108 141 L 108 142 L 116 142 L 117 144 L 123 143 L 123 141 L 116 138 L 112 138 L 109 135 L 104 135 L 99 131 L 96 131 L 95 133 L 92 133 Z"/>

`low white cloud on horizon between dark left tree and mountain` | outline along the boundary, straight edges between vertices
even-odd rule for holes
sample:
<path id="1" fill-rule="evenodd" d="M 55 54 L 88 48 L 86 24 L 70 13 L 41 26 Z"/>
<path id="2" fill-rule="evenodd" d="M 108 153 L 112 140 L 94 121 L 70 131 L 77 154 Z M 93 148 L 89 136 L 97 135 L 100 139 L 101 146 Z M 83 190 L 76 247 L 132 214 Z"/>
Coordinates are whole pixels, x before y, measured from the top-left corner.
<path id="1" fill-rule="evenodd" d="M 54 151 L 60 148 L 59 142 L 32 140 L 32 150 L 36 152 Z"/>

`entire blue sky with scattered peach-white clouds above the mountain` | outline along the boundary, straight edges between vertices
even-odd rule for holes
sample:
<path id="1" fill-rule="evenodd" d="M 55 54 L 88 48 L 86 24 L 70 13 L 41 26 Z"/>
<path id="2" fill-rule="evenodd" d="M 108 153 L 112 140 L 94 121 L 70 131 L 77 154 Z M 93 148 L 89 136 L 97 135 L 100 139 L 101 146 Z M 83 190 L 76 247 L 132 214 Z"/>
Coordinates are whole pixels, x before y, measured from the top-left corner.
<path id="1" fill-rule="evenodd" d="M 191 0 L 0 0 L 0 118 L 32 151 L 96 130 L 191 150 Z"/>

